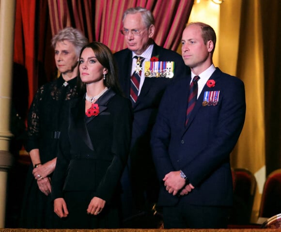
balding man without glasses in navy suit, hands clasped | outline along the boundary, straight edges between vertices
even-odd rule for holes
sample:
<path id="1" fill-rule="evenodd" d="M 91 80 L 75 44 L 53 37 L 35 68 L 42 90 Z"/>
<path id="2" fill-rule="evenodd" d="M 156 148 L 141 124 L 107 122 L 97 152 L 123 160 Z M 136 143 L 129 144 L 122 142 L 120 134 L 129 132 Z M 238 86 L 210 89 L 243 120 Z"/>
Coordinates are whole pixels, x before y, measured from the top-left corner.
<path id="1" fill-rule="evenodd" d="M 187 25 L 182 56 L 191 75 L 167 88 L 152 132 L 164 228 L 227 226 L 233 201 L 229 156 L 246 103 L 243 82 L 215 68 L 215 45 L 209 25 Z"/>

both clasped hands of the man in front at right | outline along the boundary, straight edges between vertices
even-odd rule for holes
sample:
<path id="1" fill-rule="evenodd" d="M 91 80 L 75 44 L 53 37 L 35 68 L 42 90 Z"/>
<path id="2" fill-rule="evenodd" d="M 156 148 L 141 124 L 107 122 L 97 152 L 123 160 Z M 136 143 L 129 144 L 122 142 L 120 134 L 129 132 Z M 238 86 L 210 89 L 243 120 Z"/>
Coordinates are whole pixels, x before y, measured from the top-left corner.
<path id="1" fill-rule="evenodd" d="M 166 190 L 171 193 L 173 196 L 179 195 L 183 196 L 188 194 L 194 189 L 194 186 L 191 184 L 186 185 L 186 180 L 180 176 L 180 171 L 171 171 L 165 175 L 164 186 Z"/>

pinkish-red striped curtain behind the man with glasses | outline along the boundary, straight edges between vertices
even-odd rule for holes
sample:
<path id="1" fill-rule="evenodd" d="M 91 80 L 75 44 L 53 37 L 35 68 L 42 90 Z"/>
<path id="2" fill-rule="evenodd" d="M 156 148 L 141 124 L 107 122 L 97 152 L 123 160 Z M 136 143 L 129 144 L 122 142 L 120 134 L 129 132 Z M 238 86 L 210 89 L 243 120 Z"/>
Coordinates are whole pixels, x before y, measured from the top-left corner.
<path id="1" fill-rule="evenodd" d="M 127 8 L 141 6 L 149 9 L 156 21 L 156 44 L 176 50 L 187 24 L 194 0 L 100 0 L 95 3 L 95 38 L 119 51 L 126 47 L 120 33 L 122 16 Z"/>

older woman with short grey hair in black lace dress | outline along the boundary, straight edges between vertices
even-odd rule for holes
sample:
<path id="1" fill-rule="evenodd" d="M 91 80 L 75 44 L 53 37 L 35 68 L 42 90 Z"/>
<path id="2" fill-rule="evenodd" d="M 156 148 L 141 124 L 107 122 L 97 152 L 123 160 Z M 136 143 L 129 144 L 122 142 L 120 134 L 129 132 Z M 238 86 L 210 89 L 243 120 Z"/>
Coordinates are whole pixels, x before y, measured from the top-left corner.
<path id="1" fill-rule="evenodd" d="M 77 95 L 78 59 L 87 38 L 68 27 L 51 40 L 56 66 L 61 76 L 39 88 L 28 116 L 28 139 L 25 145 L 32 165 L 24 194 L 20 227 L 53 228 L 51 177 L 56 165 L 62 121 L 67 117 L 65 102 Z"/>

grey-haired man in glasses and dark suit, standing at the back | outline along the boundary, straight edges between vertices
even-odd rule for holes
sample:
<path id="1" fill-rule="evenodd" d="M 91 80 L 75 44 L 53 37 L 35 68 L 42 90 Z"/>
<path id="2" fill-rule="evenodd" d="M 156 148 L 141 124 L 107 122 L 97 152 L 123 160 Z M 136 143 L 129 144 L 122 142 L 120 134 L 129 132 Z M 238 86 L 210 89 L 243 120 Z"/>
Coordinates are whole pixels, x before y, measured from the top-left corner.
<path id="1" fill-rule="evenodd" d="M 121 88 L 125 96 L 131 99 L 134 112 L 131 152 L 122 178 L 124 216 L 128 217 L 145 208 L 151 210 L 157 201 L 159 186 L 151 155 L 150 133 L 165 88 L 174 79 L 187 76 L 190 71 L 179 54 L 155 44 L 152 39 L 155 33 L 154 17 L 147 9 L 127 9 L 123 15 L 121 33 L 127 48 L 114 56 Z M 148 68 L 145 68 L 145 62 L 150 62 Z M 135 92 L 131 87 L 134 72 L 139 77 L 135 80 L 138 83 L 134 82 Z"/>

